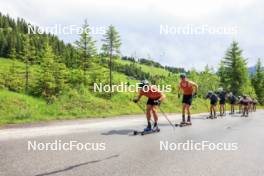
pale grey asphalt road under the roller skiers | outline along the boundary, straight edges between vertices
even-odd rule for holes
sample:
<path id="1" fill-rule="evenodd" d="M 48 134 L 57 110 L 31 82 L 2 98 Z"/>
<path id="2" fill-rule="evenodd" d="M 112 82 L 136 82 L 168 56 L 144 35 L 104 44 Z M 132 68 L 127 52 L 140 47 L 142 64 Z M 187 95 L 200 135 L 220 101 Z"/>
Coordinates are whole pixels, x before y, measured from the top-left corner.
<path id="1" fill-rule="evenodd" d="M 1 176 L 262 176 L 264 175 L 264 111 L 249 118 L 216 120 L 196 115 L 193 125 L 173 128 L 161 118 L 161 132 L 131 135 L 143 129 L 144 116 L 76 120 L 0 129 Z M 175 123 L 179 115 L 169 114 Z M 28 150 L 28 143 L 77 141 L 93 150 Z M 235 144 L 237 150 L 161 150 L 161 143 Z M 103 145 L 98 147 L 96 145 Z M 105 150 L 100 150 L 105 148 Z M 91 149 L 91 148 L 88 148 Z M 164 149 L 164 146 L 163 148 Z"/>

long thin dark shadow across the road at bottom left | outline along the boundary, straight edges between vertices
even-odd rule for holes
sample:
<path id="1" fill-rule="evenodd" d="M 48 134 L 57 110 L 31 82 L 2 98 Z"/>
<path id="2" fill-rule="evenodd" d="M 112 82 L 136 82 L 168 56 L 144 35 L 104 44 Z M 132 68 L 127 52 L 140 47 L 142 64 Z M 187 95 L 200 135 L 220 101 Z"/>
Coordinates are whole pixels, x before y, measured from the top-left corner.
<path id="1" fill-rule="evenodd" d="M 46 172 L 46 173 L 42 173 L 42 174 L 37 174 L 35 176 L 46 176 L 46 175 L 57 174 L 57 173 L 60 173 L 60 172 L 66 172 L 66 171 L 75 169 L 77 167 L 81 167 L 81 166 L 85 166 L 85 165 L 93 164 L 93 163 L 98 163 L 98 162 L 105 161 L 105 160 L 109 160 L 109 159 L 116 158 L 116 157 L 119 157 L 119 155 L 112 155 L 112 156 L 109 156 L 107 158 L 103 158 L 103 159 L 100 159 L 100 160 L 88 161 L 88 162 L 84 162 L 84 163 L 72 165 L 72 166 L 66 167 L 64 169 L 55 170 L 55 171 L 51 171 L 51 172 Z"/>

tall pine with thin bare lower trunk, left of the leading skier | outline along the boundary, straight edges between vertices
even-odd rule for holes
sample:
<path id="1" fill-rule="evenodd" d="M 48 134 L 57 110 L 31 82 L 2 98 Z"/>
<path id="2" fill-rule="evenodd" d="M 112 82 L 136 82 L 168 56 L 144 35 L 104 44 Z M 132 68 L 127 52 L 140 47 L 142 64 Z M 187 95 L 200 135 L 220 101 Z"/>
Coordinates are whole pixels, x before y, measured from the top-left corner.
<path id="1" fill-rule="evenodd" d="M 104 39 L 102 40 L 104 44 L 102 45 L 103 54 L 109 57 L 109 84 L 110 84 L 110 97 L 112 92 L 112 58 L 114 55 L 120 54 L 121 40 L 119 33 L 116 31 L 115 27 L 110 25 Z"/>

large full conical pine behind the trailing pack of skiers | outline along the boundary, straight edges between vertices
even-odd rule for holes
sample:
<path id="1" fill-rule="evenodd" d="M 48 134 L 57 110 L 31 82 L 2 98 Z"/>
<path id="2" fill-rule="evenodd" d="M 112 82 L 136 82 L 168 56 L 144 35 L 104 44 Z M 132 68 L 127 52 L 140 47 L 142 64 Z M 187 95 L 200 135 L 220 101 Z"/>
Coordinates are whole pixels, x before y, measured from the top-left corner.
<path id="1" fill-rule="evenodd" d="M 226 90 L 235 95 L 251 93 L 247 63 L 237 42 L 233 41 L 221 64 L 219 76 Z"/>

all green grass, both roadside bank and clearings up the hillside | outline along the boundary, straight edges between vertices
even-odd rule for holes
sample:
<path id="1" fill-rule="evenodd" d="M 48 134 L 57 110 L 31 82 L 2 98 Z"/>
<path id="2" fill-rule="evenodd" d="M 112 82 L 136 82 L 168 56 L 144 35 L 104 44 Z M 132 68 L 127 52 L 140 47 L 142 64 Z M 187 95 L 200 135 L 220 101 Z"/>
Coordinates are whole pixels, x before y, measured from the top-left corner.
<path id="1" fill-rule="evenodd" d="M 119 61 L 129 64 L 128 61 Z M 15 64 L 19 72 L 23 72 L 25 65 L 19 61 L 0 58 L 0 81 L 9 67 Z M 38 66 L 31 67 L 31 78 L 34 78 Z M 160 68 L 152 68 L 143 65 L 142 69 L 160 75 L 168 74 L 168 71 Z M 92 65 L 88 75 L 90 78 L 94 74 L 108 74 L 108 69 L 99 65 Z M 126 82 L 126 75 L 114 72 L 114 82 Z M 108 77 L 108 75 L 106 75 Z M 22 79 L 22 78 L 21 78 Z M 130 80 L 135 84 L 137 80 Z M 1 85 L 1 82 L 0 82 Z M 0 125 L 11 123 L 29 123 L 37 121 L 78 119 L 78 118 L 98 118 L 128 114 L 142 114 L 143 111 L 137 104 L 132 102 L 136 93 L 114 93 L 111 100 L 103 98 L 102 95 L 94 93 L 88 88 L 80 90 L 67 89 L 63 95 L 58 97 L 55 103 L 48 105 L 42 98 L 32 97 L 23 93 L 8 91 L 0 86 Z M 181 112 L 181 99 L 173 93 L 166 94 L 166 100 L 161 108 L 166 112 Z M 144 107 L 146 98 L 140 102 Z M 193 101 L 193 113 L 207 112 L 209 101 L 195 99 Z"/>

